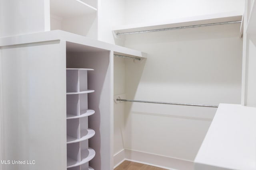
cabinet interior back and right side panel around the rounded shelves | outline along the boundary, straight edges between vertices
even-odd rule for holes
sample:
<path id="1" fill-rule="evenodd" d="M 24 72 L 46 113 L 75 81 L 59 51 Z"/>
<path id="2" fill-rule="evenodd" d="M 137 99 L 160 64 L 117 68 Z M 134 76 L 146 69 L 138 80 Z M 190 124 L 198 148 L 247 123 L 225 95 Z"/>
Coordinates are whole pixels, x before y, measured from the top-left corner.
<path id="1" fill-rule="evenodd" d="M 112 147 L 110 144 L 111 106 L 113 96 L 111 91 L 112 77 L 110 66 L 110 51 L 67 53 L 68 68 L 94 68 L 88 72 L 88 88 L 95 90 L 88 94 L 88 107 L 95 113 L 88 117 L 89 128 L 95 131 L 94 137 L 89 140 L 89 147 L 96 152 L 90 161 L 95 170 L 112 170 Z"/>

